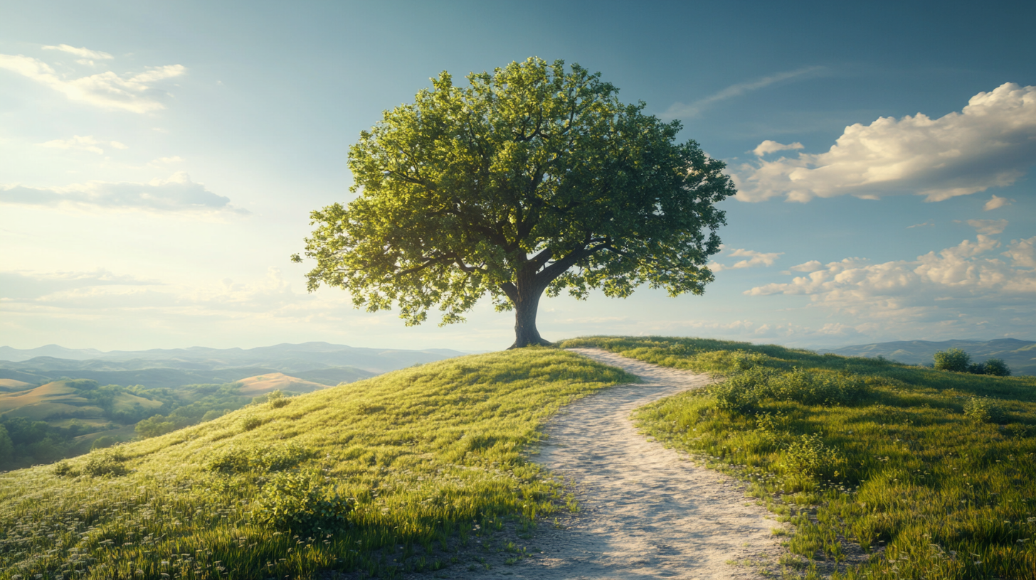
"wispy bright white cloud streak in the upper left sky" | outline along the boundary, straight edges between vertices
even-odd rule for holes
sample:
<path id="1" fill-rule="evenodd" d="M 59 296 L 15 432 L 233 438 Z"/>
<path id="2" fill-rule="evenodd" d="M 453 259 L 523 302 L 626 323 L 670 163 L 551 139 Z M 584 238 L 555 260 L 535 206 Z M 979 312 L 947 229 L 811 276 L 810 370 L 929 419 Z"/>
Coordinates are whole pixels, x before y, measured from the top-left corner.
<path id="1" fill-rule="evenodd" d="M 64 94 L 70 100 L 134 113 L 165 109 L 165 105 L 155 99 L 157 91 L 154 83 L 179 77 L 186 71 L 180 64 L 170 64 L 149 67 L 144 72 L 125 77 L 109 70 L 79 79 L 65 79 L 41 60 L 4 54 L 0 54 L 0 68 L 32 79 Z"/>

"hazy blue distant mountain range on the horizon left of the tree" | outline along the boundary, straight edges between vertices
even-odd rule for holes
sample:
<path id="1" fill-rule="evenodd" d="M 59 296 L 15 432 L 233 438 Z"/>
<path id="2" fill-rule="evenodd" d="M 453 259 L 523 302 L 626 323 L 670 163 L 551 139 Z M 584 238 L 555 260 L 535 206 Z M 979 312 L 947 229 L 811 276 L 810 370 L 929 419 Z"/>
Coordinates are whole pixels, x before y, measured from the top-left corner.
<path id="1" fill-rule="evenodd" d="M 322 342 L 251 349 L 192 347 L 109 352 L 58 345 L 24 350 L 2 346 L 0 379 L 42 384 L 66 377 L 100 384 L 175 387 L 285 373 L 334 385 L 463 354 L 451 349 L 356 348 Z"/>

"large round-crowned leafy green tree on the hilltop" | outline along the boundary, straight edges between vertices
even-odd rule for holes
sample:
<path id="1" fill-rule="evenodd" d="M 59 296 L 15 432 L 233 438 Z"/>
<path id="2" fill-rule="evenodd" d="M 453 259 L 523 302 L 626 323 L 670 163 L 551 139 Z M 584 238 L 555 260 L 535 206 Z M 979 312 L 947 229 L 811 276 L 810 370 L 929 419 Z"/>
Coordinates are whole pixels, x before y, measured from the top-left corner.
<path id="1" fill-rule="evenodd" d="M 736 191 L 722 162 L 677 143 L 679 121 L 560 60 L 467 80 L 442 72 L 361 133 L 348 155 L 358 197 L 311 213 L 311 291 L 348 290 L 369 312 L 398 303 L 407 325 L 436 306 L 442 324 L 462 321 L 488 293 L 515 311 L 512 348 L 549 344 L 536 328 L 545 291 L 704 291 L 726 223 L 714 204 Z"/>

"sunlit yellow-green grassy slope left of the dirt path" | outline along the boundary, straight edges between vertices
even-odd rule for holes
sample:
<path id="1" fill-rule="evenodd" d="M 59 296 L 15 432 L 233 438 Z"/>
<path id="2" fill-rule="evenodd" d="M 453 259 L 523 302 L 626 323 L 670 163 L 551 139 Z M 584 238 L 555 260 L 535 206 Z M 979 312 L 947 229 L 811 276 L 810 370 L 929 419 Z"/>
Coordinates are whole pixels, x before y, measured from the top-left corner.
<path id="1" fill-rule="evenodd" d="M 630 380 L 556 350 L 465 356 L 122 445 L 121 465 L 133 470 L 125 475 L 58 476 L 51 466 L 0 473 L 0 579 L 70 570 L 97 579 L 296 578 L 435 568 L 451 538 L 466 542 L 498 527 L 501 515 L 549 513 L 558 488 L 522 448 L 559 406 Z M 316 473 L 327 493 L 355 497 L 351 527 L 296 535 L 254 523 L 256 496 L 279 475 L 206 465 L 263 452 L 304 459 L 296 468 Z M 65 465 L 86 469 L 105 457 L 119 464 L 94 452 Z"/>

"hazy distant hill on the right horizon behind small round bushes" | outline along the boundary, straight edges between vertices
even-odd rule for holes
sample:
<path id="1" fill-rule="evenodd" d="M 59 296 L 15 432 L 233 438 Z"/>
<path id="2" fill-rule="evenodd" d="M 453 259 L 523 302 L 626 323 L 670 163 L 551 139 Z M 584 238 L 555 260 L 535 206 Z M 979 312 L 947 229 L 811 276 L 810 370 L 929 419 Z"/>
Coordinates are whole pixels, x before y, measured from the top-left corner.
<path id="1" fill-rule="evenodd" d="M 908 365 L 931 365 L 932 356 L 940 350 L 959 348 L 971 355 L 972 361 L 1002 358 L 1015 375 L 1036 375 L 1036 342 L 1017 339 L 992 341 L 896 341 L 867 345 L 845 346 L 835 349 L 817 349 L 842 356 L 884 356 Z"/>

